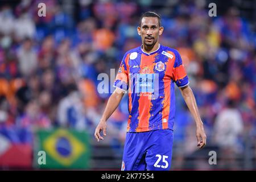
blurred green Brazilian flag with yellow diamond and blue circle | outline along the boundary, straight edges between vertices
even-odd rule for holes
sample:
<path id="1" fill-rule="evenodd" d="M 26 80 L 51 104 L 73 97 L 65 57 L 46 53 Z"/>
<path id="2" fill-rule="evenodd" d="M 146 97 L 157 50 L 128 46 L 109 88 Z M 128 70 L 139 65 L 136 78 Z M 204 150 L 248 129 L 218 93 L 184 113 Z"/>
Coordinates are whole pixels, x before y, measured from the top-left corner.
<path id="1" fill-rule="evenodd" d="M 39 130 L 36 132 L 34 164 L 47 169 L 86 169 L 89 167 L 88 135 L 71 129 Z M 38 162 L 39 152 L 46 154 L 45 164 Z"/>

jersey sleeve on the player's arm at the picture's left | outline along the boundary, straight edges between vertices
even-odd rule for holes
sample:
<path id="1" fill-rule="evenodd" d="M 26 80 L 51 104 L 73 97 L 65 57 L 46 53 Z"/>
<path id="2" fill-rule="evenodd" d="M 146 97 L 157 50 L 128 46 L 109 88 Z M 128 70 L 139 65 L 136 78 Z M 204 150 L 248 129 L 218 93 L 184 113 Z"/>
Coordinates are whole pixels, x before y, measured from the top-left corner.
<path id="1" fill-rule="evenodd" d="M 127 91 L 128 90 L 128 76 L 129 76 L 129 71 L 128 71 L 128 66 L 127 65 L 129 60 L 129 54 L 125 54 L 125 56 L 123 56 L 123 59 L 121 61 L 121 65 L 118 69 L 118 73 L 117 76 L 115 77 L 115 82 L 114 82 L 114 87 L 115 88 L 119 88 L 123 91 Z"/>

